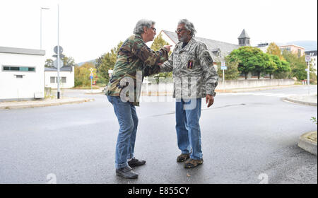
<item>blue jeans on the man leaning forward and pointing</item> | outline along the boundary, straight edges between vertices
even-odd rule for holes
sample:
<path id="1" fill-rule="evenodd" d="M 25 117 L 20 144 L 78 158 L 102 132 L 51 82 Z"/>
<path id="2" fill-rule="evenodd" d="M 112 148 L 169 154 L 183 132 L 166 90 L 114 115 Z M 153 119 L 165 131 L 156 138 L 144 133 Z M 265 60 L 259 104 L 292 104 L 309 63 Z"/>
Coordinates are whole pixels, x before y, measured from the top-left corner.
<path id="1" fill-rule="evenodd" d="M 138 126 L 136 107 L 129 102 L 122 102 L 119 96 L 107 95 L 114 106 L 114 112 L 119 122 L 117 136 L 115 168 L 125 168 L 127 159 L 134 158 L 134 148 Z"/>

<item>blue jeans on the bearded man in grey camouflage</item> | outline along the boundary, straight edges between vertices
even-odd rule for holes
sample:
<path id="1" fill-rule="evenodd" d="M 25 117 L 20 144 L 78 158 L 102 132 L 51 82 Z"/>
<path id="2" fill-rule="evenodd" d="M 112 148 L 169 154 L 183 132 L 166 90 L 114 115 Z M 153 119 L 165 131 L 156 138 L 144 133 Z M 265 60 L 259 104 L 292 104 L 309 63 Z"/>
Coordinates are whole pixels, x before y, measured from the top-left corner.
<path id="1" fill-rule="evenodd" d="M 187 108 L 192 102 L 193 107 Z M 196 103 L 196 104 L 195 104 Z M 190 158 L 200 160 L 202 158 L 201 150 L 201 130 L 199 120 L 201 116 L 201 98 L 192 99 L 192 101 L 176 100 L 175 120 L 177 130 L 177 143 L 182 154 L 191 152 Z"/>

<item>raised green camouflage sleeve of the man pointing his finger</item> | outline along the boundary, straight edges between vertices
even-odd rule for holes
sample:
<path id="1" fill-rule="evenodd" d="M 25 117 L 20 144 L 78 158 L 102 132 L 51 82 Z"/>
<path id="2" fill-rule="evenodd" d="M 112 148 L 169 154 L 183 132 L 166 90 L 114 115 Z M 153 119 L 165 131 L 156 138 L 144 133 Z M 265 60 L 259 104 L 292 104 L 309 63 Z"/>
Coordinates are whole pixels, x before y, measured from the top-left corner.
<path id="1" fill-rule="evenodd" d="M 168 59 L 168 52 L 164 48 L 158 51 L 151 50 L 141 38 L 136 38 L 131 46 L 131 52 L 139 57 L 146 65 L 154 66 Z"/>

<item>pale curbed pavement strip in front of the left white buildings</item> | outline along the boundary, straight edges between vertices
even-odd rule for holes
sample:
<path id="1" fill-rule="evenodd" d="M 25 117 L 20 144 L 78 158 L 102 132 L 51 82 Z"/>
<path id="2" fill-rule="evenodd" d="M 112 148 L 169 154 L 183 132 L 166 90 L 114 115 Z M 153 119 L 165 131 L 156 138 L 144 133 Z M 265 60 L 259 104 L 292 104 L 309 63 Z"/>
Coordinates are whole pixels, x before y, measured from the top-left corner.
<path id="1" fill-rule="evenodd" d="M 18 108 L 28 108 L 28 107 L 49 107 L 49 106 L 55 106 L 55 105 L 65 105 L 65 104 L 74 104 L 74 103 L 84 103 L 84 102 L 90 102 L 94 99 L 78 99 L 73 101 L 62 101 L 62 102 L 54 102 L 54 103 L 40 103 L 40 104 L 21 104 L 21 105 L 6 105 L 3 107 L 0 107 L 1 109 L 18 109 Z"/>

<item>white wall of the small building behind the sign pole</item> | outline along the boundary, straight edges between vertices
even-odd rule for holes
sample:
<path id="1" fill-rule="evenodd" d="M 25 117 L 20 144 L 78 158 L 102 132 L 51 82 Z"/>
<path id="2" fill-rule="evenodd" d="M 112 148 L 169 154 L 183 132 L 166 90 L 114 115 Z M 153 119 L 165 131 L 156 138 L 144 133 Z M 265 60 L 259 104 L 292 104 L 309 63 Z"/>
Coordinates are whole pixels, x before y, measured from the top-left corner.
<path id="1" fill-rule="evenodd" d="M 57 83 L 51 83 L 51 76 L 57 77 L 57 71 L 45 71 L 45 87 L 57 88 Z M 73 71 L 60 71 L 59 77 L 66 77 L 66 83 L 60 83 L 59 88 L 74 87 L 74 68 Z"/>

